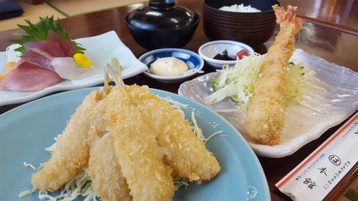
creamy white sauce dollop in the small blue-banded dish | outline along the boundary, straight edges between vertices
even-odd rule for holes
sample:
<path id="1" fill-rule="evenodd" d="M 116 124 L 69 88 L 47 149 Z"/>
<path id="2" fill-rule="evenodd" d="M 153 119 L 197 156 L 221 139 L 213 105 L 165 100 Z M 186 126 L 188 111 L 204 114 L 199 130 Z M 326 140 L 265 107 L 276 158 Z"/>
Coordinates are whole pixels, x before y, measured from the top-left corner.
<path id="1" fill-rule="evenodd" d="M 156 60 L 150 65 L 149 72 L 160 76 L 179 76 L 183 75 L 189 67 L 182 60 L 175 57 L 164 57 Z"/>

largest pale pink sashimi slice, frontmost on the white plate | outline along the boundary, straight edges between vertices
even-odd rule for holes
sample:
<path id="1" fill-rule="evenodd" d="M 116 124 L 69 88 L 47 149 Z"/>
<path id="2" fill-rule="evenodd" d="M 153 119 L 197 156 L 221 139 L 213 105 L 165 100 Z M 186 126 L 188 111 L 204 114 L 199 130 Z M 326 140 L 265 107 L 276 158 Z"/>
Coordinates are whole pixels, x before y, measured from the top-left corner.
<path id="1" fill-rule="evenodd" d="M 53 69 L 24 61 L 0 82 L 0 90 L 37 91 L 63 80 Z"/>

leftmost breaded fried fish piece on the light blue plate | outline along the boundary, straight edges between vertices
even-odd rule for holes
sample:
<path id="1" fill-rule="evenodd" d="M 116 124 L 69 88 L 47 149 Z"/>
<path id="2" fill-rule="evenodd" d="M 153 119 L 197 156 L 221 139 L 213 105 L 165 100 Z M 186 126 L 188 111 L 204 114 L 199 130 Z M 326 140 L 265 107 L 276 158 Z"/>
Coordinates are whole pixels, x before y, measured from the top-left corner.
<path id="1" fill-rule="evenodd" d="M 43 168 L 32 175 L 32 185 L 41 191 L 56 191 L 70 181 L 82 166 L 88 163 L 88 131 L 93 119 L 89 115 L 98 102 L 98 92 L 93 91 L 83 100 L 67 127 L 59 137 L 55 151 Z"/>

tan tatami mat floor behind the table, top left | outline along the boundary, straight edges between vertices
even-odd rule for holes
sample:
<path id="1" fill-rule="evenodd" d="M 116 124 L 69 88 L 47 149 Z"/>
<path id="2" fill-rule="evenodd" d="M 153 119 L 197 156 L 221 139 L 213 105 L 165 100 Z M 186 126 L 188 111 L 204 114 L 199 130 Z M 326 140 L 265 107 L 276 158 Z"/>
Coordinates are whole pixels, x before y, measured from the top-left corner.
<path id="1" fill-rule="evenodd" d="M 147 0 L 43 0 L 42 4 L 34 5 L 31 0 L 15 0 L 24 9 L 21 16 L 0 20 L 0 31 L 18 28 L 18 24 L 27 25 L 26 20 L 37 23 L 39 17 L 54 16 L 62 19 L 69 16 L 92 13 L 126 6 L 129 4 L 146 2 Z"/>

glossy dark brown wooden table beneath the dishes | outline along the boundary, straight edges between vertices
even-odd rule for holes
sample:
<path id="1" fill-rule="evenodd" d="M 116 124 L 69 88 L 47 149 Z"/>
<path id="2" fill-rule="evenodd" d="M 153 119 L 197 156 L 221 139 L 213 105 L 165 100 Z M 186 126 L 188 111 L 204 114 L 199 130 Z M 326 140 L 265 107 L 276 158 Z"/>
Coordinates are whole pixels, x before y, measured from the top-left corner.
<path id="1" fill-rule="evenodd" d="M 282 0 L 282 5 L 287 5 L 292 2 L 292 5 L 297 5 L 296 1 Z M 314 54 L 317 57 L 321 57 L 328 62 L 332 62 L 344 67 L 350 68 L 355 72 L 358 72 L 358 59 L 357 59 L 357 47 L 358 47 L 358 30 L 357 30 L 357 1 L 334 1 L 332 5 L 331 1 L 320 1 L 321 5 L 316 5 L 315 1 L 302 1 L 297 5 L 299 6 L 297 14 L 302 16 L 304 20 L 303 29 L 297 34 L 295 48 L 299 48 Z M 352 9 L 347 13 L 346 4 L 351 2 Z M 352 3 L 353 2 L 353 3 Z M 190 10 L 202 15 L 202 1 L 201 0 L 177 0 L 177 5 L 184 6 Z M 71 18 L 61 19 L 61 26 L 69 31 L 72 39 L 83 38 L 88 36 L 95 36 L 106 33 L 111 30 L 115 30 L 122 42 L 131 49 L 134 55 L 139 58 L 147 50 L 141 48 L 133 40 L 128 29 L 124 24 L 124 16 L 130 11 L 142 6 L 144 4 L 134 4 L 125 6 L 122 8 L 111 9 L 106 11 L 100 11 L 97 13 L 90 13 L 85 15 L 74 16 Z M 328 6 L 328 7 L 327 7 Z M 329 7 L 330 6 L 330 7 Z M 335 8 L 340 9 L 335 9 Z M 318 14 L 311 14 L 319 10 Z M 324 8 L 331 8 L 330 12 L 325 11 Z M 333 20 L 334 16 L 339 17 L 339 21 Z M 44 16 L 42 16 L 44 17 Z M 353 20 L 352 20 L 353 19 Z M 336 23 L 337 21 L 337 23 Z M 279 31 L 279 26 L 276 27 L 274 35 L 265 44 L 255 47 L 255 51 L 261 54 L 267 52 L 267 49 L 273 44 L 275 36 Z M 21 29 L 13 29 L 0 32 L 0 51 L 5 51 L 5 48 L 11 43 L 10 39 L 16 39 L 18 36 L 12 35 L 13 33 L 24 33 Z M 198 52 L 200 45 L 208 42 L 204 35 L 203 23 L 200 22 L 193 39 L 190 43 L 183 47 L 193 52 Z M 203 70 L 205 73 L 213 72 L 214 69 L 208 65 L 204 65 Z M 199 76 L 199 74 L 198 74 Z M 193 79 L 193 77 L 188 80 Z M 138 84 L 148 85 L 150 88 L 161 89 L 173 93 L 178 93 L 178 88 L 181 83 L 164 84 L 154 79 L 146 77 L 143 74 L 136 75 L 134 77 L 125 79 L 126 84 Z M 184 82 L 184 81 L 183 81 Z M 21 104 L 14 104 L 9 106 L 0 107 L 0 113 L 8 111 L 11 108 L 17 107 Z M 344 122 L 343 122 L 344 123 Z M 342 124 L 343 124 L 342 123 Z M 275 186 L 275 184 L 281 180 L 282 177 L 287 175 L 293 168 L 295 168 L 301 161 L 305 159 L 311 152 L 314 151 L 321 143 L 323 143 L 328 137 L 330 137 L 342 124 L 330 128 L 318 139 L 306 144 L 304 147 L 296 151 L 290 156 L 283 158 L 265 158 L 258 157 L 262 168 L 265 172 L 267 182 L 269 184 L 272 200 L 291 200 L 289 197 L 281 193 Z M 358 165 L 348 172 L 348 174 L 338 183 L 333 192 L 328 195 L 329 200 L 338 200 L 342 197 L 343 193 L 357 178 Z M 327 198 L 328 198 L 327 197 Z"/>

